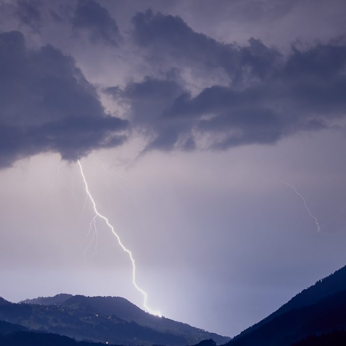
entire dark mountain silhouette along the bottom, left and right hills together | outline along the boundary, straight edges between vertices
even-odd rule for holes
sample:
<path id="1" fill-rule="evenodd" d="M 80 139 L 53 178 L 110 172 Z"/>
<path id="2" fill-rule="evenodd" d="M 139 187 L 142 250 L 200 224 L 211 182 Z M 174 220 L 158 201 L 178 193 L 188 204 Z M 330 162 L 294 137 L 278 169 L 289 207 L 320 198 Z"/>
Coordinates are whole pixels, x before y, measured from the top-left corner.
<path id="1" fill-rule="evenodd" d="M 345 330 L 346 266 L 231 340 L 151 315 L 121 297 L 0 298 L 1 346 L 341 346 Z"/>

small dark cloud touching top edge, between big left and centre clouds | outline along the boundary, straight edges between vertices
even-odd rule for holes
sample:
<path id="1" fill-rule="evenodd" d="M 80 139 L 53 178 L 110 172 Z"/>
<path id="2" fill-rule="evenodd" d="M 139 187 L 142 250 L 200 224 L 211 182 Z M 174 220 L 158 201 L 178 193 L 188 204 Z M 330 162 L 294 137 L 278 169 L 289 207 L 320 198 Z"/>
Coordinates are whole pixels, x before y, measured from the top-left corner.
<path id="1" fill-rule="evenodd" d="M 78 0 L 72 24 L 75 29 L 86 30 L 91 42 L 118 46 L 122 40 L 115 19 L 105 7 L 93 0 Z"/>

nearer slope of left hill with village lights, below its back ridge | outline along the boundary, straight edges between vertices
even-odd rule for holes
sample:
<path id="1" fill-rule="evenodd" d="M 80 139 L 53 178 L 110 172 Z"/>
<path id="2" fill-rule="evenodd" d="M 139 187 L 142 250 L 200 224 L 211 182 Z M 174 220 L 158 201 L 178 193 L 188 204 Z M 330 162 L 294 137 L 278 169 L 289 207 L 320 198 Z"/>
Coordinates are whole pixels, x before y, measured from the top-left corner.
<path id="1" fill-rule="evenodd" d="M 183 346 L 187 341 L 180 335 L 160 333 L 116 315 L 94 313 L 87 307 L 62 305 L 7 304 L 0 305 L 0 319 L 29 329 L 57 333 L 77 340 L 109 341 L 126 345 Z"/>

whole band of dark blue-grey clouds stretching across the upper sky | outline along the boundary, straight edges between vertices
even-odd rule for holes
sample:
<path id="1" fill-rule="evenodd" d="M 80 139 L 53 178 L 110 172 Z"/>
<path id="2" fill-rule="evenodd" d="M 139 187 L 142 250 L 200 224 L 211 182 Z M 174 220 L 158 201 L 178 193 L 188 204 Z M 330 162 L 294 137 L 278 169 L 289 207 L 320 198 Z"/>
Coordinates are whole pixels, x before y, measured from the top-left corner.
<path id="1" fill-rule="evenodd" d="M 136 51 L 151 73 L 144 78 L 134 73 L 126 85 L 104 88 L 128 106 L 124 121 L 105 113 L 71 56 L 49 44 L 29 49 L 18 31 L 0 34 L 1 167 L 45 151 L 71 160 L 120 145 L 128 128 L 147 137 L 144 152 L 223 150 L 275 143 L 298 131 L 334 126 L 346 115 L 342 40 L 296 44 L 282 53 L 256 39 L 246 46 L 221 43 L 179 16 L 150 9 L 136 13 L 130 33 L 122 36 L 115 18 L 94 0 L 55 9 L 19 0 L 13 16 L 40 31 L 44 13 L 59 14 L 56 25 L 86 34 L 90 47 L 115 48 L 128 64 L 133 56 L 127 54 Z M 73 39 L 78 43 L 78 36 Z M 110 68 L 118 69 L 117 63 Z M 222 83 L 210 78 L 219 75 Z M 194 78 L 207 82 L 193 88 Z"/>

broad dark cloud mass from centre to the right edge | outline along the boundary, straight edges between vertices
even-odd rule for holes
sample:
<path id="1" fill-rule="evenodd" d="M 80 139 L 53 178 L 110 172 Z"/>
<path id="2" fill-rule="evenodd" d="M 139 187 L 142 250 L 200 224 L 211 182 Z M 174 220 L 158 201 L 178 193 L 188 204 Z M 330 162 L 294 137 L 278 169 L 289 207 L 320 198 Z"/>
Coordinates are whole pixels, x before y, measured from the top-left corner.
<path id="1" fill-rule="evenodd" d="M 195 33 L 180 17 L 137 13 L 133 37 L 157 59 L 190 69 L 222 68 L 228 86 L 196 95 L 174 78 L 131 82 L 108 91 L 130 105 L 138 129 L 151 135 L 145 150 L 275 143 L 298 131 L 327 128 L 346 116 L 346 46 L 314 43 L 288 54 L 251 39 L 248 46 L 216 42 Z M 151 59 L 151 60 L 150 60 Z M 204 138 L 204 140 L 203 140 Z"/>

